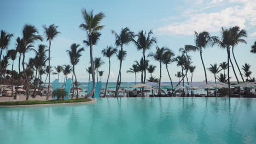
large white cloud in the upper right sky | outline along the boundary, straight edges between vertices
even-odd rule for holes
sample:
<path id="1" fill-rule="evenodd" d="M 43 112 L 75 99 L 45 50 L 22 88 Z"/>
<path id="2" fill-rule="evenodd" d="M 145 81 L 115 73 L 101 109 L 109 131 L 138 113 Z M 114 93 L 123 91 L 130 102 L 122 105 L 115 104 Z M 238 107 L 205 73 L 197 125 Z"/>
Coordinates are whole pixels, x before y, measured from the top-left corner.
<path id="1" fill-rule="evenodd" d="M 217 1 L 221 2 L 222 0 Z M 202 13 L 188 9 L 185 13 L 185 16 L 189 16 L 188 20 L 160 27 L 156 29 L 156 32 L 167 35 L 190 35 L 194 34 L 194 31 L 217 32 L 220 31 L 220 27 L 239 26 L 246 28 L 247 26 L 255 26 L 256 2 L 255 0 L 245 0 L 245 2 L 242 6 L 228 7 L 216 13 Z"/>

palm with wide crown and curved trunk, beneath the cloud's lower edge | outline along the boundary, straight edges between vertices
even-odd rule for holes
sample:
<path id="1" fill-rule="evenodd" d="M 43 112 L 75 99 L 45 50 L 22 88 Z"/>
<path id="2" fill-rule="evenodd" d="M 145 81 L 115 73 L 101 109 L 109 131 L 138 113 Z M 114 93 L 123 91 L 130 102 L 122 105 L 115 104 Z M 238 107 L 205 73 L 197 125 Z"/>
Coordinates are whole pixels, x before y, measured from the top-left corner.
<path id="1" fill-rule="evenodd" d="M 212 46 L 214 43 L 214 39 L 216 37 L 211 37 L 210 33 L 203 31 L 201 33 L 195 32 L 195 46 L 193 45 L 186 45 L 185 48 L 188 49 L 188 51 L 199 51 L 200 52 L 200 57 L 203 65 L 203 70 L 205 71 L 205 81 L 207 81 L 207 74 L 206 74 L 206 69 L 205 69 L 205 63 L 203 62 L 202 58 L 202 50 L 206 49 L 207 46 Z"/>

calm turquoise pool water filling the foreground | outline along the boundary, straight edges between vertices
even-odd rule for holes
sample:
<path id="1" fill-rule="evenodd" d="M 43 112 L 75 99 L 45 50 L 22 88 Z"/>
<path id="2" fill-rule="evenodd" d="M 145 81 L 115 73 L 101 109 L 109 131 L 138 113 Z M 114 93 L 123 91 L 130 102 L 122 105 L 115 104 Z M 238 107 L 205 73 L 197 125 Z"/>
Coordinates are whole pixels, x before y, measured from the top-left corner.
<path id="1" fill-rule="evenodd" d="M 256 143 L 256 99 L 108 98 L 0 108 L 0 143 Z"/>

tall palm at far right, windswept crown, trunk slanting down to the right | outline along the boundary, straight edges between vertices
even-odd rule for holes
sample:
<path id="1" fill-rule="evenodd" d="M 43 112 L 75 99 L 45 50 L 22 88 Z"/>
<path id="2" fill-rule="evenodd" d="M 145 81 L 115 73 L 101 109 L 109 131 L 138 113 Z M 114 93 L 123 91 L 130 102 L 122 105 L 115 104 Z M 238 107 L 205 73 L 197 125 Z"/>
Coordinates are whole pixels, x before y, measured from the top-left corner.
<path id="1" fill-rule="evenodd" d="M 232 54 L 233 54 L 233 57 L 234 57 L 237 69 L 238 69 L 238 71 L 239 71 L 239 73 L 241 75 L 241 78 L 243 80 L 243 75 L 242 75 L 241 70 L 240 70 L 240 68 L 239 68 L 239 66 L 237 64 L 236 57 L 235 57 L 235 54 L 234 54 L 234 47 L 236 45 L 238 45 L 239 43 L 247 44 L 246 40 L 242 39 L 243 37 L 247 37 L 247 33 L 246 33 L 245 29 L 241 29 L 240 30 L 240 27 L 237 27 L 237 26 L 231 27 L 230 31 L 231 31 L 231 37 L 232 37 L 232 44 L 231 44 L 231 46 L 232 46 Z M 245 82 L 245 80 L 243 80 L 243 82 Z"/>

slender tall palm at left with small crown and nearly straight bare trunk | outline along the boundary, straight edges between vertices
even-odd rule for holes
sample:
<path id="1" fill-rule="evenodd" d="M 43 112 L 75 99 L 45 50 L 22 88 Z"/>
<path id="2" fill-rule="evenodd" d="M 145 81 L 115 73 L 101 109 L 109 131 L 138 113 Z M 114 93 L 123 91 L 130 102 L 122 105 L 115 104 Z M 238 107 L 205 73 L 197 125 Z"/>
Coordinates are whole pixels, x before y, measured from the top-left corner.
<path id="1" fill-rule="evenodd" d="M 54 24 L 50 25 L 49 27 L 46 27 L 46 25 L 43 26 L 44 28 L 44 33 L 46 36 L 46 40 L 49 40 L 49 56 L 48 56 L 48 62 L 49 62 L 49 67 L 51 67 L 51 56 L 50 56 L 50 52 L 51 52 L 51 41 L 57 37 L 58 34 L 60 34 L 60 32 L 57 31 L 58 26 L 55 26 Z M 48 83 L 50 84 L 50 79 L 51 79 L 51 71 L 49 70 L 49 81 Z M 47 97 L 46 99 L 49 99 L 49 94 L 50 94 L 50 87 L 48 87 L 48 93 L 47 93 Z"/>

